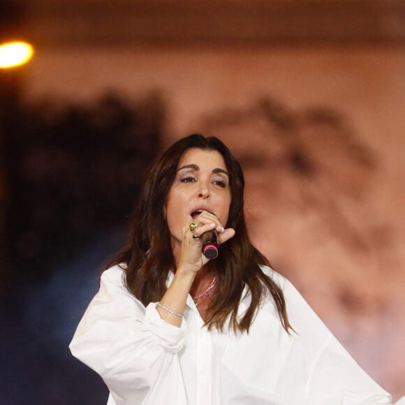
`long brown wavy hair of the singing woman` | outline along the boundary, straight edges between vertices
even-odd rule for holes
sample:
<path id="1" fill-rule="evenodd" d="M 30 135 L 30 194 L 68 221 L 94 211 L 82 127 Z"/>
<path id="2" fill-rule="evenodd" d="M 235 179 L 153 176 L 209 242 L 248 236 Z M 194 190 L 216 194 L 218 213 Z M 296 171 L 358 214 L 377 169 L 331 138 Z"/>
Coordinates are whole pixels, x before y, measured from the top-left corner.
<path id="1" fill-rule="evenodd" d="M 170 231 L 163 210 L 179 161 L 184 152 L 191 148 L 217 151 L 223 157 L 229 173 L 231 192 L 226 228 L 235 229 L 235 236 L 221 244 L 218 258 L 208 263 L 216 275 L 217 283 L 205 324 L 209 329 L 216 327 L 223 330 L 230 316 L 229 325 L 235 332 L 249 332 L 260 300 L 268 290 L 274 298 L 281 324 L 289 332 L 292 328 L 288 322 L 281 288 L 260 269 L 260 265 L 270 266 L 270 263 L 249 240 L 244 219 L 242 168 L 228 147 L 218 138 L 205 138 L 199 134 L 182 138 L 149 168 L 138 207 L 132 215 L 126 246 L 113 258 L 110 265 L 126 263 L 123 267 L 126 288 L 145 306 L 161 300 L 167 290 L 169 272 L 175 270 Z M 242 318 L 239 318 L 237 311 L 246 285 L 251 293 L 251 302 Z"/>

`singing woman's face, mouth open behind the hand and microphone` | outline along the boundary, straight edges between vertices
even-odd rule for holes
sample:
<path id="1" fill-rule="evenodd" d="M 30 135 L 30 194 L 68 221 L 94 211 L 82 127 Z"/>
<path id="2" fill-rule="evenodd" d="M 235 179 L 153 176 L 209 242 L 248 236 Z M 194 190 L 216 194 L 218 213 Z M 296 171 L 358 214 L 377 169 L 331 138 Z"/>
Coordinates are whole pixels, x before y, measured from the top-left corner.
<path id="1" fill-rule="evenodd" d="M 173 249 L 182 243 L 184 226 L 200 211 L 214 214 L 225 228 L 230 200 L 229 175 L 222 155 L 215 150 L 188 149 L 179 161 L 165 203 Z"/>

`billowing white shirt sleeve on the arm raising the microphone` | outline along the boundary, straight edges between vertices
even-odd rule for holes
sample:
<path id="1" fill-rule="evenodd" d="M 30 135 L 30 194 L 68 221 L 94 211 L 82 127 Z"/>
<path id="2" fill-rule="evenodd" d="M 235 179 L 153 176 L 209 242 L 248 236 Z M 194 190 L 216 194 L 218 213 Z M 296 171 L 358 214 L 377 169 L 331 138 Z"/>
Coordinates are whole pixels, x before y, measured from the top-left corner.
<path id="1" fill-rule="evenodd" d="M 117 405 L 185 405 L 177 353 L 184 346 L 186 321 L 166 323 L 156 303 L 146 308 L 128 293 L 115 266 L 101 277 L 100 290 L 84 313 L 69 348 L 105 381 Z"/>

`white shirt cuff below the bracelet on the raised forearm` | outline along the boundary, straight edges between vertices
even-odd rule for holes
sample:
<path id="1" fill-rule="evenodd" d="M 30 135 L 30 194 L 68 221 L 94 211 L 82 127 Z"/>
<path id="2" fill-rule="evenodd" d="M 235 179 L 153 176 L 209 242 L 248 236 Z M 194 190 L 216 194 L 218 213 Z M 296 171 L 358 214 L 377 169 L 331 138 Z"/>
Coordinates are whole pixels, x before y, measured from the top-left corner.
<path id="1" fill-rule="evenodd" d="M 178 353 L 184 346 L 184 332 L 187 322 L 182 318 L 182 325 L 177 327 L 164 321 L 156 310 L 157 302 L 150 302 L 146 307 L 144 324 L 156 337 L 159 337 L 161 346 L 172 353 Z"/>

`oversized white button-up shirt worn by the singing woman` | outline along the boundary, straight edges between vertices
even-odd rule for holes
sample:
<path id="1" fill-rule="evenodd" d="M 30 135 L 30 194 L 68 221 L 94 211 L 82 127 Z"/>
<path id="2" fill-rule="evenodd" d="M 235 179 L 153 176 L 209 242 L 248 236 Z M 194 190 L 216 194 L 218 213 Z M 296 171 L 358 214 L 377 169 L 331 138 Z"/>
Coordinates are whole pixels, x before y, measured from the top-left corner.
<path id="1" fill-rule="evenodd" d="M 156 302 L 145 308 L 128 292 L 115 266 L 103 273 L 71 351 L 108 385 L 108 405 L 390 404 L 292 284 L 263 271 L 281 286 L 296 333 L 283 329 L 270 293 L 249 334 L 208 331 L 190 295 L 175 327 Z M 240 314 L 249 302 L 245 288 Z"/>

